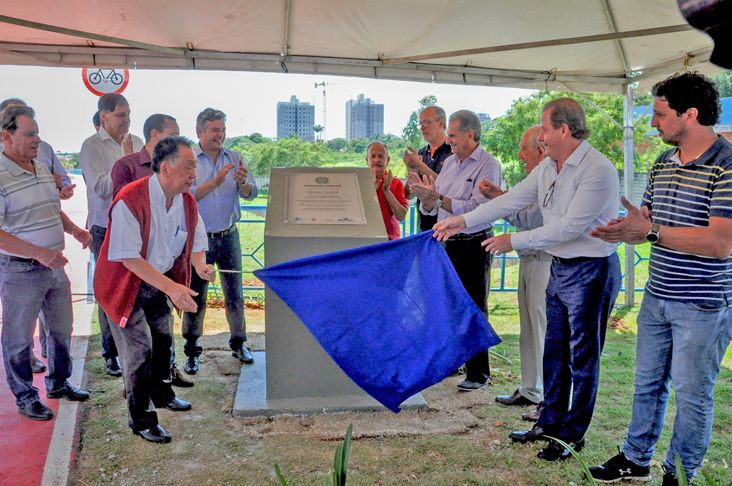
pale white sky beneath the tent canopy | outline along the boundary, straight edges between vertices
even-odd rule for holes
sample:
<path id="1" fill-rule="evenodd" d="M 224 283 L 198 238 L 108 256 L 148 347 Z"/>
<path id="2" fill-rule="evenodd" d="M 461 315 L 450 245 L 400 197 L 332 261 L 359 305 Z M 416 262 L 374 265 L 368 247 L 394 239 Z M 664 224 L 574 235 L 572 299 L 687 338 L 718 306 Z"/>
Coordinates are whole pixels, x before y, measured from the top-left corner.
<path id="1" fill-rule="evenodd" d="M 86 89 L 81 68 L 0 66 L 0 100 L 21 98 L 36 110 L 40 135 L 59 152 L 78 152 L 94 133 L 92 115 L 97 96 Z M 513 100 L 530 90 L 415 83 L 337 76 L 230 71 L 130 70 L 122 93 L 130 102 L 130 131 L 142 138 L 142 125 L 153 113 L 178 120 L 181 134 L 196 140 L 196 115 L 206 107 L 227 114 L 227 136 L 277 133 L 277 102 L 297 96 L 315 106 L 315 123 L 322 125 L 322 87 L 326 88 L 326 136 L 345 134 L 345 104 L 363 93 L 384 104 L 384 131 L 401 135 L 409 115 L 427 95 L 437 97 L 449 114 L 459 109 L 502 115 Z"/>

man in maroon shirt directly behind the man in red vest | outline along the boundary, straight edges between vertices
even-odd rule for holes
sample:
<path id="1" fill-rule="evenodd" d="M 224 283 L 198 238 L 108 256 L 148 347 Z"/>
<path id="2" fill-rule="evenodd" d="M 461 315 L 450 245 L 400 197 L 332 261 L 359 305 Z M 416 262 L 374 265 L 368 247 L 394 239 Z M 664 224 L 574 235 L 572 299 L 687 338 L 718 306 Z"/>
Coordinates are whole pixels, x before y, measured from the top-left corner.
<path id="1" fill-rule="evenodd" d="M 142 127 L 145 136 L 145 146 L 142 150 L 125 155 L 112 167 L 112 195 L 117 195 L 120 189 L 137 179 L 152 175 L 152 151 L 157 143 L 166 138 L 180 135 L 178 122 L 170 115 L 156 113 L 145 120 Z"/>

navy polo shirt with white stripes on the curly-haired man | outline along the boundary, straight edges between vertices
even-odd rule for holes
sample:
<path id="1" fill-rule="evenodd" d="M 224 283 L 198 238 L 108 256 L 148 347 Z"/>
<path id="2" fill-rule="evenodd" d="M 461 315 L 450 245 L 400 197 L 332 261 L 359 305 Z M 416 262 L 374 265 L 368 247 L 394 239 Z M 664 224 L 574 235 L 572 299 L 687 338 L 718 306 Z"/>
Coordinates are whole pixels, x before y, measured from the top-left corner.
<path id="1" fill-rule="evenodd" d="M 677 149 L 656 160 L 643 194 L 654 223 L 674 228 L 709 226 L 732 218 L 732 143 L 719 137 L 699 158 L 681 164 Z M 719 260 L 651 247 L 646 291 L 659 299 L 721 307 L 732 299 L 732 258 Z"/>

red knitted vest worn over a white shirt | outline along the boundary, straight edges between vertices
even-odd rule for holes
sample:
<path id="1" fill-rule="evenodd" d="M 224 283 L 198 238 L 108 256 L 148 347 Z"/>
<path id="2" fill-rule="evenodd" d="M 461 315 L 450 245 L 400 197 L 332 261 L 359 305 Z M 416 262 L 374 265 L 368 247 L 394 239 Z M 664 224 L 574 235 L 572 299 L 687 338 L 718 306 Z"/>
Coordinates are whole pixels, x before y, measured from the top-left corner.
<path id="1" fill-rule="evenodd" d="M 109 225 L 104 243 L 99 251 L 99 260 L 94 270 L 94 297 L 104 309 L 111 321 L 120 327 L 125 327 L 132 310 L 135 307 L 137 294 L 140 291 L 142 280 L 127 270 L 122 262 L 111 262 L 109 254 L 109 238 L 114 231 L 112 226 L 112 208 L 118 201 L 124 201 L 132 215 L 140 223 L 142 249 L 140 256 L 147 257 L 147 244 L 150 239 L 150 192 L 148 191 L 149 177 L 138 179 L 127 184 L 117 193 L 112 206 L 109 208 Z M 188 228 L 188 237 L 180 256 L 176 258 L 168 275 L 176 283 L 190 285 L 191 283 L 191 249 L 195 228 L 198 224 L 198 206 L 189 192 L 183 193 L 183 208 Z"/>

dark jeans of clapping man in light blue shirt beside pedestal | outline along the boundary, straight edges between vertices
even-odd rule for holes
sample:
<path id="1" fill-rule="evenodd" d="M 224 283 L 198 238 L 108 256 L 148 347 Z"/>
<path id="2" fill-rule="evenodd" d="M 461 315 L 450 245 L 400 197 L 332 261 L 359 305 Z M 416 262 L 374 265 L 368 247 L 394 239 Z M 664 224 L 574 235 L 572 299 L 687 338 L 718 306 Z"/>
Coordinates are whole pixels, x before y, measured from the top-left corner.
<path id="1" fill-rule="evenodd" d="M 229 323 L 229 347 L 239 349 L 247 340 L 246 322 L 244 320 L 244 298 L 241 290 L 241 244 L 239 230 L 236 229 L 220 238 L 208 238 L 206 263 L 216 265 L 222 270 L 237 270 L 239 273 L 219 273 L 221 287 L 224 292 L 224 308 L 226 321 Z M 183 338 L 186 340 L 184 351 L 186 356 L 200 356 L 203 348 L 198 339 L 203 335 L 203 321 L 206 318 L 206 294 L 208 282 L 192 271 L 191 290 L 198 292 L 193 298 L 198 305 L 198 312 L 183 314 Z"/>

